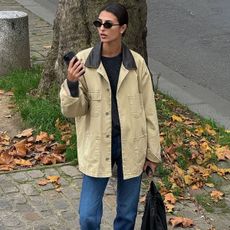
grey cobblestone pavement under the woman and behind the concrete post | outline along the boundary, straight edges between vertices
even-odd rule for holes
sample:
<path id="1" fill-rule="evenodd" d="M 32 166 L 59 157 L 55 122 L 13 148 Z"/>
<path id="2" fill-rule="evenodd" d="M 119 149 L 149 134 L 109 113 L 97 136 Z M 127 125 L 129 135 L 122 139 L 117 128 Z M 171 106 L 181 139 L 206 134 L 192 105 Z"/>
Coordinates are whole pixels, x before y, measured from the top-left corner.
<path id="1" fill-rule="evenodd" d="M 33 63 L 43 62 L 51 45 L 52 26 L 14 0 L 0 0 L 0 10 L 19 10 L 28 13 L 31 60 Z M 52 183 L 45 186 L 38 185 L 39 180 L 49 175 L 60 176 L 60 191 L 56 191 Z M 76 166 L 71 165 L 0 173 L 0 230 L 80 229 L 77 207 L 81 180 L 81 173 Z M 102 230 L 112 229 L 116 207 L 115 182 L 116 179 L 112 177 L 106 189 Z M 141 196 L 147 191 L 146 184 L 148 183 L 143 178 Z M 229 208 L 229 184 L 223 183 L 223 189 L 225 189 Z M 143 209 L 143 204 L 140 203 L 135 230 L 140 229 Z M 214 213 L 207 214 L 191 200 L 178 202 L 174 214 L 192 218 L 195 226 L 190 229 L 209 230 L 213 229 L 213 225 L 216 230 L 230 229 L 229 212 L 218 208 Z M 170 217 L 171 215 L 167 216 L 168 219 Z M 169 229 L 171 229 L 170 226 Z"/>

